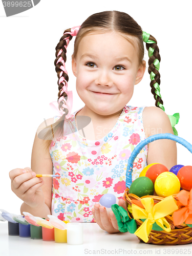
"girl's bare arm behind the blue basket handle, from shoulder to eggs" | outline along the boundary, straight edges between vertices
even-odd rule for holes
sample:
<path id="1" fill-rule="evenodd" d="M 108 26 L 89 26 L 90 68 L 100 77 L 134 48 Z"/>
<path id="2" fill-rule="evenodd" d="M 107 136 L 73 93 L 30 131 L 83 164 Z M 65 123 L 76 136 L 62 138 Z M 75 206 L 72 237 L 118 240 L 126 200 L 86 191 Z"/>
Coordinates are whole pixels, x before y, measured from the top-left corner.
<path id="1" fill-rule="evenodd" d="M 143 110 L 143 126 L 146 138 L 161 133 L 173 133 L 166 113 L 150 106 Z M 177 146 L 173 140 L 156 140 L 148 144 L 147 164 L 161 163 L 168 169 L 177 164 Z"/>

